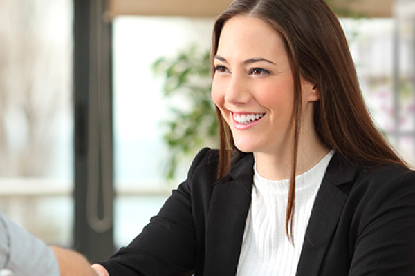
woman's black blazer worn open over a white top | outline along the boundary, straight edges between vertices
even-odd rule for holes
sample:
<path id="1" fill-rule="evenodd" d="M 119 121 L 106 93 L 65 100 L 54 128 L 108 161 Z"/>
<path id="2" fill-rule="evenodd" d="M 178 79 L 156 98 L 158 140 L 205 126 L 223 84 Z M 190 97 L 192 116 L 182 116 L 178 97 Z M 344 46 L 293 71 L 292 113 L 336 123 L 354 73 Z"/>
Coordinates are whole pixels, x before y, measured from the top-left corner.
<path id="1" fill-rule="evenodd" d="M 217 155 L 208 148 L 196 155 L 160 213 L 102 263 L 111 276 L 235 275 L 254 159 L 241 154 L 218 181 Z M 414 172 L 395 165 L 369 172 L 333 156 L 297 268 L 297 276 L 317 275 L 415 275 Z"/>

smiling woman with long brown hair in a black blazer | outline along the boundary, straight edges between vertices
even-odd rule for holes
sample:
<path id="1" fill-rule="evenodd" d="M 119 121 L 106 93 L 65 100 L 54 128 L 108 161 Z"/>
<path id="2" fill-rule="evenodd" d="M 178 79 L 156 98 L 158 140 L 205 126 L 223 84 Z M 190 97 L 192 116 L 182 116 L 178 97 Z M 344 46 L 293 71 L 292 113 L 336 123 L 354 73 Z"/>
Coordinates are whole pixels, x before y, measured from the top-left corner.
<path id="1" fill-rule="evenodd" d="M 236 0 L 214 26 L 205 148 L 102 275 L 415 275 L 415 175 L 371 121 L 323 0 Z"/>

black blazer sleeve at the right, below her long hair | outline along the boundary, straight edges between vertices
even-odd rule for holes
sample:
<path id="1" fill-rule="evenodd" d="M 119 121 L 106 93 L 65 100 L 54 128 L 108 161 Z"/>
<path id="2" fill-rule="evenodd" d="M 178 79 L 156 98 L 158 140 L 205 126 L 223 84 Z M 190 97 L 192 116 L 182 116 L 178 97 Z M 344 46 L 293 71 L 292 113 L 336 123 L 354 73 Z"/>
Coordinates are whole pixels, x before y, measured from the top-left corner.
<path id="1" fill-rule="evenodd" d="M 377 181 L 362 206 L 349 276 L 415 275 L 414 172 Z"/>

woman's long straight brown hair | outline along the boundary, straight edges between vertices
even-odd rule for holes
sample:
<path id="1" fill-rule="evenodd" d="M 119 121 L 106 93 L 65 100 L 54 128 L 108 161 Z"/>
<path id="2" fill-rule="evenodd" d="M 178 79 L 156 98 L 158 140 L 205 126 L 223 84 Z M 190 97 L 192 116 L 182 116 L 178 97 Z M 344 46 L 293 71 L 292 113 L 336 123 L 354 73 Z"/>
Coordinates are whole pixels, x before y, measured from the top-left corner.
<path id="1" fill-rule="evenodd" d="M 407 165 L 374 126 L 340 22 L 323 0 L 235 0 L 216 19 L 212 57 L 216 55 L 223 26 L 239 14 L 257 17 L 273 26 L 284 41 L 291 63 L 295 83 L 294 135 L 286 234 L 293 242 L 295 168 L 302 112 L 300 76 L 314 83 L 320 93 L 320 99 L 315 102 L 314 124 L 327 148 L 335 149 L 341 157 L 362 168 L 390 163 Z M 217 107 L 216 114 L 221 141 L 218 177 L 221 178 L 228 173 L 231 153 L 237 149 Z"/>

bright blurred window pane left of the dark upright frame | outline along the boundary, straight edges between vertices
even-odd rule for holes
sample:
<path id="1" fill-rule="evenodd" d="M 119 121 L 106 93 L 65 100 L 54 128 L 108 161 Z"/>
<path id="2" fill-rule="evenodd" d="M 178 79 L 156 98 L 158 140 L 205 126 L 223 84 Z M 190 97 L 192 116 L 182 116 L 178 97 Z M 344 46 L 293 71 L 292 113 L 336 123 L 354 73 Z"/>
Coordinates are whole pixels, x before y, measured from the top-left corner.
<path id="1" fill-rule="evenodd" d="M 72 243 L 72 2 L 0 1 L 0 212 Z"/>

